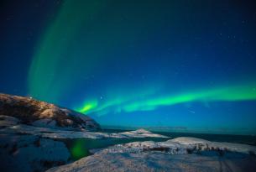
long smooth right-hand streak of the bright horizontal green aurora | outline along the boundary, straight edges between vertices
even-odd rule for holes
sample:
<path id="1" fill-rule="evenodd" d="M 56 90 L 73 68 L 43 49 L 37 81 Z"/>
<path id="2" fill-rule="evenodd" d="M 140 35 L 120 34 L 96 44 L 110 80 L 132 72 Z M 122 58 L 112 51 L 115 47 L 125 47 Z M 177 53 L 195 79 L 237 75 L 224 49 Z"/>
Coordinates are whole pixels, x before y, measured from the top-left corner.
<path id="1" fill-rule="evenodd" d="M 126 112 L 144 111 L 159 106 L 171 106 L 184 102 L 222 102 L 222 101 L 249 101 L 256 100 L 255 86 L 230 86 L 220 89 L 210 89 L 206 91 L 191 91 L 185 94 L 174 96 L 162 96 L 145 100 L 143 102 L 133 102 L 123 107 Z"/>

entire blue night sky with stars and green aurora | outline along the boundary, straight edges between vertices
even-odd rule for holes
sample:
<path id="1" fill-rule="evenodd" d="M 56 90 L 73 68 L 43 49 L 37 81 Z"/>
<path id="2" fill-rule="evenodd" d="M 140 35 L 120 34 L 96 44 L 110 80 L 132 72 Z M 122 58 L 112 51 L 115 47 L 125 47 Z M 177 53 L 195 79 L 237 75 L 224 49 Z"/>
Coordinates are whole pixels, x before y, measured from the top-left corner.
<path id="1" fill-rule="evenodd" d="M 6 0 L 0 91 L 106 128 L 256 134 L 256 3 Z"/>

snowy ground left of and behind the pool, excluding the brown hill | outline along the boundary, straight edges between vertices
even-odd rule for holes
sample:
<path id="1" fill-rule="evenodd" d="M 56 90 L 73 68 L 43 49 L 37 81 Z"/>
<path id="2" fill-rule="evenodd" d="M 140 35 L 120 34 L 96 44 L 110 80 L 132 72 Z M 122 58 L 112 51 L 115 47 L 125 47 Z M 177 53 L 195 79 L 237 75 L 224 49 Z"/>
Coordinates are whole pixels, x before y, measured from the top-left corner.
<path id="1" fill-rule="evenodd" d="M 124 133 L 66 129 L 25 125 L 16 117 L 0 115 L 1 171 L 44 171 L 70 163 L 69 149 L 56 138 L 167 138 L 144 129 Z"/>

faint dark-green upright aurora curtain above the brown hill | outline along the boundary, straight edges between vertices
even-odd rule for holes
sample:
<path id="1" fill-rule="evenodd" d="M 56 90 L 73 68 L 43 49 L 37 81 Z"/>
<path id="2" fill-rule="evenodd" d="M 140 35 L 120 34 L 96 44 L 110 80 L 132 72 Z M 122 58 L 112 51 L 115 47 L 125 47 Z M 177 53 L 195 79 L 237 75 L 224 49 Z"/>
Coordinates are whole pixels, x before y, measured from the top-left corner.
<path id="1" fill-rule="evenodd" d="M 90 23 L 101 8 L 102 2 L 91 1 L 90 6 L 86 1 L 67 0 L 61 4 L 56 18 L 39 41 L 34 58 L 29 69 L 29 94 L 40 100 L 58 102 L 63 92 L 69 91 L 72 84 L 79 81 L 77 69 L 83 69 L 83 73 L 95 65 L 97 53 L 90 54 L 90 44 L 82 43 L 82 49 L 86 53 L 81 58 L 79 44 L 79 32 L 83 24 Z M 88 45 L 89 44 L 89 45 Z M 75 48 L 74 48 L 75 47 Z M 77 48 L 78 49 L 78 48 Z M 86 60 L 90 60 L 88 64 Z"/>

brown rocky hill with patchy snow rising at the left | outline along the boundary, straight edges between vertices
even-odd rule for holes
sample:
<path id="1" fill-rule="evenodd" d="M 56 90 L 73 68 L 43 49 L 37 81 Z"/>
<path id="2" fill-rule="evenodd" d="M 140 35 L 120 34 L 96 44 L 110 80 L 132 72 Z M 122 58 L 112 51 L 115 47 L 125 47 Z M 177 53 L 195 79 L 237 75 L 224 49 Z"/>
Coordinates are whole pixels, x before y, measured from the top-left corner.
<path id="1" fill-rule="evenodd" d="M 97 131 L 100 126 L 79 112 L 40 102 L 31 97 L 0 94 L 0 115 L 18 118 L 20 123 L 43 128 Z"/>

